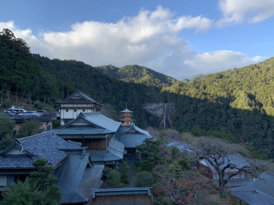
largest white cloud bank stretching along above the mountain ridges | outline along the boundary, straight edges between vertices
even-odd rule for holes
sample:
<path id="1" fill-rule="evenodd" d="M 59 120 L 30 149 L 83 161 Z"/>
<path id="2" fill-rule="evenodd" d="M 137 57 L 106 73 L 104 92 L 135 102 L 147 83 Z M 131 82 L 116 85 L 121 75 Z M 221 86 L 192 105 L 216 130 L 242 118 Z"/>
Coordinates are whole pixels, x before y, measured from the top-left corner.
<path id="1" fill-rule="evenodd" d="M 116 23 L 77 23 L 67 32 L 41 32 L 34 36 L 31 30 L 21 30 L 14 22 L 0 23 L 0 30 L 9 28 L 27 42 L 32 53 L 49 58 L 76 59 L 92 66 L 137 64 L 176 79 L 261 59 L 233 51 L 196 53 L 179 37 L 184 29 L 198 32 L 211 26 L 212 20 L 206 17 L 174 17 L 173 12 L 159 6 L 155 11 L 141 10 L 137 16 L 124 17 Z"/>

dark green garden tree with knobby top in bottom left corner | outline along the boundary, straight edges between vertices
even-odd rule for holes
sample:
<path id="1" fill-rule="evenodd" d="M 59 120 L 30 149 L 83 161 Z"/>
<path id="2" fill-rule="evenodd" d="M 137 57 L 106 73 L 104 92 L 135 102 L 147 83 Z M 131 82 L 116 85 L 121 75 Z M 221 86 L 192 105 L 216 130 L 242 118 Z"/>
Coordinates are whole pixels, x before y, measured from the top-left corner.
<path id="1" fill-rule="evenodd" d="M 60 204 L 61 193 L 59 187 L 54 184 L 57 180 L 53 176 L 54 168 L 47 166 L 47 159 L 36 159 L 33 166 L 36 171 L 32 172 L 22 182 L 13 183 L 3 192 L 2 205 L 57 205 Z"/>

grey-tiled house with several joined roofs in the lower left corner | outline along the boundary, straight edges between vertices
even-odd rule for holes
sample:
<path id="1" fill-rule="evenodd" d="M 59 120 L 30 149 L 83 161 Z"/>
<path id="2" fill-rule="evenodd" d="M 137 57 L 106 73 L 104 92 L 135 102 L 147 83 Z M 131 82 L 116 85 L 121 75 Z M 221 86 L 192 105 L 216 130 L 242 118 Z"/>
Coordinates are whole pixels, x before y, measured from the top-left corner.
<path id="1" fill-rule="evenodd" d="M 104 166 L 93 165 L 79 142 L 66 141 L 52 131 L 20 139 L 0 154 L 0 190 L 16 181 L 24 181 L 38 158 L 48 159 L 55 168 L 61 204 L 89 204 L 91 191 L 101 186 Z"/>

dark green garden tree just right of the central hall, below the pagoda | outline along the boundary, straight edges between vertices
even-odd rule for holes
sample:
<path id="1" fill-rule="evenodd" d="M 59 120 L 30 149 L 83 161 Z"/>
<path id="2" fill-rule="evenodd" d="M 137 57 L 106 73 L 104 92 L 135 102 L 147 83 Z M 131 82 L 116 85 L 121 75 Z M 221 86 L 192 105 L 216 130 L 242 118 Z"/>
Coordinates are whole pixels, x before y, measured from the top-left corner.
<path id="1" fill-rule="evenodd" d="M 136 153 L 141 156 L 140 161 L 136 162 L 140 166 L 140 171 L 151 172 L 155 165 L 162 163 L 159 144 L 160 141 L 145 139 L 143 144 L 136 147 Z"/>

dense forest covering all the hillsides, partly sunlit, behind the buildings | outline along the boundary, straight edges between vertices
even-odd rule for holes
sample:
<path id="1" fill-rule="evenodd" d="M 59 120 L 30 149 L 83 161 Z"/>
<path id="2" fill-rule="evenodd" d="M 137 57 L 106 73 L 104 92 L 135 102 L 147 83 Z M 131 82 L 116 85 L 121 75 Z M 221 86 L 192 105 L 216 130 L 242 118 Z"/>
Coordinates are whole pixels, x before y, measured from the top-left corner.
<path id="1" fill-rule="evenodd" d="M 4 29 L 0 71 L 2 103 L 14 94 L 53 104 L 80 89 L 99 103 L 112 105 L 117 113 L 127 104 L 135 123 L 144 128 L 160 125 L 145 103 L 168 102 L 175 108 L 174 129 L 242 142 L 274 158 L 274 58 L 179 81 L 137 65 L 94 68 L 81 61 L 31 54 L 23 39 Z"/>

